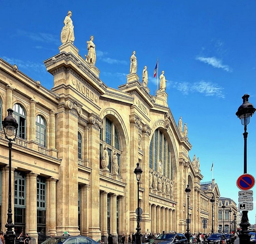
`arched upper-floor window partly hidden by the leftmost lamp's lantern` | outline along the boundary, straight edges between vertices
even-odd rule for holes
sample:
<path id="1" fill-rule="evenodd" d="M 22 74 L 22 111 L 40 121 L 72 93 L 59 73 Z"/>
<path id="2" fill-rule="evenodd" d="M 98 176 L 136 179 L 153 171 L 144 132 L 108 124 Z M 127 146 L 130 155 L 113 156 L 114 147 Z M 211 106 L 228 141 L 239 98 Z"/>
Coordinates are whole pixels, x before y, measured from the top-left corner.
<path id="1" fill-rule="evenodd" d="M 19 124 L 17 135 L 22 139 L 26 139 L 26 114 L 24 108 L 18 103 L 13 106 L 13 117 Z"/>

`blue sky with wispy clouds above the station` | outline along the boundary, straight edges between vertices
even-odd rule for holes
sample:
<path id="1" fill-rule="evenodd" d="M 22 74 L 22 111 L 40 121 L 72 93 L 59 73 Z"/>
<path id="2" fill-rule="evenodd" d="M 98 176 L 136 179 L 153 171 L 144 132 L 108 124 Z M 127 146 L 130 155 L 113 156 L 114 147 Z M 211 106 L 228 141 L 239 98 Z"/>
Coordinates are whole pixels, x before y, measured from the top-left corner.
<path id="1" fill-rule="evenodd" d="M 203 181 L 214 175 L 222 197 L 238 203 L 236 179 L 243 174 L 243 126 L 235 113 L 243 94 L 256 105 L 256 1 L 253 0 L 0 0 L 0 57 L 48 89 L 43 61 L 59 52 L 60 32 L 73 12 L 74 45 L 87 54 L 94 35 L 96 66 L 110 87 L 126 83 L 136 50 L 138 75 L 148 66 L 150 94 L 159 58 L 168 105 L 188 125 L 190 158 L 200 159 Z M 255 117 L 255 118 L 254 118 Z M 255 176 L 256 115 L 247 127 L 247 173 Z M 255 203 L 255 201 L 254 201 Z M 256 206 L 255 206 L 256 208 Z M 251 224 L 256 210 L 249 211 Z"/>

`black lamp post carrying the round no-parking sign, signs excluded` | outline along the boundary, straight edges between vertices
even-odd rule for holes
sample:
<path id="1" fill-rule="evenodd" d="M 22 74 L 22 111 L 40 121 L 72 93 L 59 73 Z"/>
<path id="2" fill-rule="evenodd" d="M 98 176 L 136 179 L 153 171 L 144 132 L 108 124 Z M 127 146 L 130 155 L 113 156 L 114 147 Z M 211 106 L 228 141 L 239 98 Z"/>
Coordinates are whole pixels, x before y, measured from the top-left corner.
<path id="1" fill-rule="evenodd" d="M 245 94 L 242 96 L 243 104 L 238 108 L 236 112 L 236 116 L 240 118 L 242 125 L 244 126 L 245 132 L 243 133 L 244 139 L 244 174 L 247 173 L 247 124 L 250 122 L 250 118 L 256 111 L 252 103 L 249 103 L 249 95 Z M 248 227 L 250 226 L 249 218 L 248 218 L 248 211 L 242 211 L 242 218 L 241 218 L 241 231 L 239 231 L 239 242 L 243 244 L 250 243 L 250 235 Z"/>

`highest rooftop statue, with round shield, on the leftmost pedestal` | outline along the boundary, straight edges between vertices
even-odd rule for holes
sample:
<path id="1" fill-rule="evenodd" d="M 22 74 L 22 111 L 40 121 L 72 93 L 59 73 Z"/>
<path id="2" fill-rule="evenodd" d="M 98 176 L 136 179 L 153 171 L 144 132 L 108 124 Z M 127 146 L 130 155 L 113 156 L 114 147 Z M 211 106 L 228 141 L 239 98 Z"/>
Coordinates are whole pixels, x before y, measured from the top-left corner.
<path id="1" fill-rule="evenodd" d="M 64 20 L 64 26 L 62 28 L 61 34 L 60 34 L 60 40 L 62 44 L 75 41 L 75 35 L 74 35 L 74 26 L 73 22 L 71 20 L 72 12 L 68 11 L 68 15 L 65 17 Z"/>

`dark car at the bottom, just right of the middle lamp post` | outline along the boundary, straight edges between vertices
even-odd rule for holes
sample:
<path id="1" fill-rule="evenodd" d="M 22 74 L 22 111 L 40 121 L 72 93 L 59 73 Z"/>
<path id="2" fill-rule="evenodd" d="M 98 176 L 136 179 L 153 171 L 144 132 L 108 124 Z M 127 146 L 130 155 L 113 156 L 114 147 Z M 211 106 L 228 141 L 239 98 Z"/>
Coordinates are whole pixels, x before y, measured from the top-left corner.
<path id="1" fill-rule="evenodd" d="M 153 242 L 153 244 L 187 244 L 188 240 L 185 235 L 176 232 L 165 232 L 159 235 Z"/>

